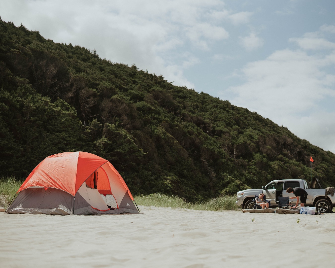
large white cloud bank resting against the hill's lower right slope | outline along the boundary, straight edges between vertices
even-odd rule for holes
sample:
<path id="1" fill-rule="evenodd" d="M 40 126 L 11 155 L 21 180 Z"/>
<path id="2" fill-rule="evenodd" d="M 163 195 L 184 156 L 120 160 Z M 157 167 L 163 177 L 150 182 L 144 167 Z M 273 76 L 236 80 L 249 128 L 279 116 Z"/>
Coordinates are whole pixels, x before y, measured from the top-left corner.
<path id="1" fill-rule="evenodd" d="M 334 53 L 310 56 L 299 50 L 276 51 L 240 70 L 245 83 L 229 88 L 236 95 L 230 101 L 335 152 L 335 113 L 327 111 L 327 104 L 335 103 L 335 75 L 324 70 L 334 67 L 334 59 Z"/>

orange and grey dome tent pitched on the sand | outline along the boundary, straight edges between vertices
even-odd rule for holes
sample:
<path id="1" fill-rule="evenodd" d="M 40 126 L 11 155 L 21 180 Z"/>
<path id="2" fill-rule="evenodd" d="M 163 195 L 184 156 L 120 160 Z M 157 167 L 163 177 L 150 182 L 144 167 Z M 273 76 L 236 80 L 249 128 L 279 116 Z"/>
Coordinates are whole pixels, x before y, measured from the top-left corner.
<path id="1" fill-rule="evenodd" d="M 128 186 L 106 159 L 88 152 L 50 155 L 23 182 L 5 213 L 139 213 Z"/>

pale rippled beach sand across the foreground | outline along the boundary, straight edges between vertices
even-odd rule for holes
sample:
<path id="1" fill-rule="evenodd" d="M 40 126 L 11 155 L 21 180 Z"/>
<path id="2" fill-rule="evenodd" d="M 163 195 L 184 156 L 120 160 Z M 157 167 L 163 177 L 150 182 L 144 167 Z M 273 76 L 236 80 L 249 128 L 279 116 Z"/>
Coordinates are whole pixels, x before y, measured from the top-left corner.
<path id="1" fill-rule="evenodd" d="M 332 267 L 335 214 L 0 212 L 1 267 Z M 297 223 L 299 218 L 299 223 Z"/>

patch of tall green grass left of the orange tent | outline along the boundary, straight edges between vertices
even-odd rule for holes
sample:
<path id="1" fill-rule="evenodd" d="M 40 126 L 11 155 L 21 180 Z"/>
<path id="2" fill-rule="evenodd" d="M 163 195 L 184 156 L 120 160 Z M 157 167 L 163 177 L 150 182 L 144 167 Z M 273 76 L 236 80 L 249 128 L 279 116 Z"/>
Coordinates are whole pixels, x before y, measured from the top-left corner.
<path id="1" fill-rule="evenodd" d="M 6 208 L 9 205 L 22 183 L 14 177 L 0 179 L 0 206 Z"/>

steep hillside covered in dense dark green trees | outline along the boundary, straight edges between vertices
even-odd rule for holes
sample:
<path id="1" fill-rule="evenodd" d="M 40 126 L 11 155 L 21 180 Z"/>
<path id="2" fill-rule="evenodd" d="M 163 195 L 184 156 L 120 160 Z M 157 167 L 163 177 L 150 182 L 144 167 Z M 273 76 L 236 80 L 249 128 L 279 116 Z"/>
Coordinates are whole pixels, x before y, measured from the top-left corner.
<path id="1" fill-rule="evenodd" d="M 195 202 L 311 175 L 335 186 L 333 153 L 257 113 L 0 20 L 0 176 L 64 151 L 108 159 L 133 195 Z"/>

